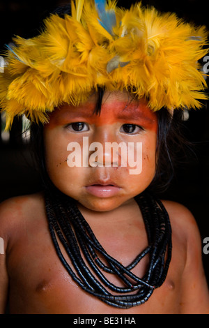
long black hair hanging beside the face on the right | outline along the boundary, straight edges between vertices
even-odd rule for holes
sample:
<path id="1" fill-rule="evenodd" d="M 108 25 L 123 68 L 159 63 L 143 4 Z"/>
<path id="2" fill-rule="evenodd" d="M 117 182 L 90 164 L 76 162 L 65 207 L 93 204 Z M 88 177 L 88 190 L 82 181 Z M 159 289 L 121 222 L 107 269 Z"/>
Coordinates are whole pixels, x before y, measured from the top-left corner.
<path id="1" fill-rule="evenodd" d="M 183 135 L 183 111 L 171 113 L 166 108 L 156 112 L 157 148 L 156 173 L 150 184 L 153 191 L 164 192 L 173 179 L 176 168 L 185 163 L 191 144 Z"/>

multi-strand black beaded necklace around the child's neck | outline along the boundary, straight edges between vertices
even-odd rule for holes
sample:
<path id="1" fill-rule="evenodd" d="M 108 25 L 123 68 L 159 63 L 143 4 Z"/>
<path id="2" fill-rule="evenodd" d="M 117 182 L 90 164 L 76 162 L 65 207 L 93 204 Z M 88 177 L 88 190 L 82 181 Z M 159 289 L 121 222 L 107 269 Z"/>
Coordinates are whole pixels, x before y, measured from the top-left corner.
<path id="1" fill-rule="evenodd" d="M 144 218 L 149 246 L 124 267 L 104 251 L 75 200 L 59 191 L 45 191 L 49 231 L 63 266 L 83 290 L 117 308 L 144 304 L 155 288 L 164 282 L 171 261 L 171 225 L 162 202 L 149 193 L 142 193 L 135 200 Z M 63 244 L 72 267 L 63 257 L 58 240 Z M 148 271 L 143 278 L 139 278 L 131 270 L 148 253 Z M 125 287 L 108 281 L 102 271 L 118 276 Z"/>

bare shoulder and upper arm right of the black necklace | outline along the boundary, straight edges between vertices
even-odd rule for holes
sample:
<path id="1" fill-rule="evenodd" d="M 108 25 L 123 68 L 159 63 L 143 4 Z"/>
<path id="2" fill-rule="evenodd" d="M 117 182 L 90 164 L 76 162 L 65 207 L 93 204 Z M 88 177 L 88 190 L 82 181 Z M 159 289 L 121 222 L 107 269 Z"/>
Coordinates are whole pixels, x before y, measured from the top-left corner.
<path id="1" fill-rule="evenodd" d="M 176 202 L 163 202 L 173 232 L 173 248 L 177 248 L 178 261 L 185 253 L 181 275 L 180 313 L 209 314 L 209 291 L 202 264 L 202 245 L 198 225 L 192 213 Z M 179 248 L 180 245 L 180 248 Z"/>

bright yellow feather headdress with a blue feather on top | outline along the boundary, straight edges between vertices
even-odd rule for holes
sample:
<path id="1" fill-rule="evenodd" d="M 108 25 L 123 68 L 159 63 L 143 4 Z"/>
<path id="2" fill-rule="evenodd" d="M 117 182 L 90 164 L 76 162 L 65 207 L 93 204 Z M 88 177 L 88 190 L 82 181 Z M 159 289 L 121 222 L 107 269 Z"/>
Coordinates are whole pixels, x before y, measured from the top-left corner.
<path id="1" fill-rule="evenodd" d="M 198 61 L 207 51 L 204 27 L 141 3 L 75 0 L 71 15 L 53 14 L 40 35 L 16 37 L 0 73 L 6 128 L 15 115 L 45 123 L 62 103 L 78 105 L 98 87 L 127 89 L 162 107 L 201 107 L 207 87 Z"/>

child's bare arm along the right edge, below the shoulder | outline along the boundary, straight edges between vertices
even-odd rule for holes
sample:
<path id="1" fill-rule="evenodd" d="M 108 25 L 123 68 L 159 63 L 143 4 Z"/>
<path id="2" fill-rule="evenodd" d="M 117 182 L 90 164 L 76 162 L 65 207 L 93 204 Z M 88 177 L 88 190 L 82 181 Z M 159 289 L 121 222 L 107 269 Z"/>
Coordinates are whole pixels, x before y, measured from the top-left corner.
<path id="1" fill-rule="evenodd" d="M 183 272 L 181 313 L 209 314 L 209 290 L 202 264 L 201 237 L 189 212 L 185 218 L 187 260 Z"/>

